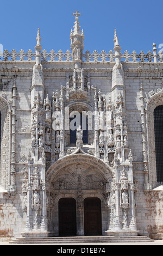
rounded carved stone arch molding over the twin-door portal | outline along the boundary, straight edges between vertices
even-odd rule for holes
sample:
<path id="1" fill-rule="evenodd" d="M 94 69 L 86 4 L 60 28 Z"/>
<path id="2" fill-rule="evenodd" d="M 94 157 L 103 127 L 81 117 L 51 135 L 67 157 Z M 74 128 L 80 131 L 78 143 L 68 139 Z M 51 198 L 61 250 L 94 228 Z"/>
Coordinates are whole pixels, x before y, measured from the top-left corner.
<path id="1" fill-rule="evenodd" d="M 83 169 L 82 166 L 87 166 L 87 168 Z M 51 183 L 56 180 L 59 174 L 63 171 L 68 175 L 71 167 L 76 168 L 74 172 L 71 172 L 72 179 L 74 178 L 74 180 L 76 180 L 76 172 L 81 173 L 81 178 L 84 178 L 85 175 L 89 175 L 90 169 L 93 169 L 97 175 L 99 174 L 103 176 L 103 178 L 109 183 L 114 175 L 112 168 L 108 164 L 104 163 L 103 160 L 86 154 L 75 154 L 59 159 L 48 168 L 46 172 L 48 182 Z"/>

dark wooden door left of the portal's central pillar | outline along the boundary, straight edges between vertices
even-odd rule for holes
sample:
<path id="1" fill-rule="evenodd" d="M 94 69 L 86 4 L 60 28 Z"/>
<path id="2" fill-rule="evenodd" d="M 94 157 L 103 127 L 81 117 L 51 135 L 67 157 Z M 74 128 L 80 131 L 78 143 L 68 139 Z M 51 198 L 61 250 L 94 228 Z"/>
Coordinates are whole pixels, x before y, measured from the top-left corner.
<path id="1" fill-rule="evenodd" d="M 61 198 L 58 203 L 59 236 L 76 236 L 77 214 L 74 198 Z"/>

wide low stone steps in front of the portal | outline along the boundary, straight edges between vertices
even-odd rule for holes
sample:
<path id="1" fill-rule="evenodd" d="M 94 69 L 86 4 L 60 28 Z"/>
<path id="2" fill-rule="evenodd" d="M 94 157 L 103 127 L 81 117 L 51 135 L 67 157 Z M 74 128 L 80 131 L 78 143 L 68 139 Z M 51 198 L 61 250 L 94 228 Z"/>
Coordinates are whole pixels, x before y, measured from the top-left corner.
<path id="1" fill-rule="evenodd" d="M 20 237 L 13 239 L 12 244 L 37 244 L 37 243 L 123 243 L 123 242 L 153 242 L 147 236 L 79 236 L 79 237 Z"/>

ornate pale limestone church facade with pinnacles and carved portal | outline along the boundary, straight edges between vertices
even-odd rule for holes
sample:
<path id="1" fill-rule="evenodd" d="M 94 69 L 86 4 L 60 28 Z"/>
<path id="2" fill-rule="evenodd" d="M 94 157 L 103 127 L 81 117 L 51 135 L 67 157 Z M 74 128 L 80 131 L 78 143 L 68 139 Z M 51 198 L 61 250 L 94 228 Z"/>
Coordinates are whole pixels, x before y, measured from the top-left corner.
<path id="1" fill-rule="evenodd" d="M 0 237 L 58 236 L 62 198 L 76 200 L 75 232 L 85 235 L 85 199 L 98 198 L 101 234 L 158 238 L 153 113 L 163 105 L 163 54 L 155 44 L 122 54 L 116 31 L 114 51 L 84 53 L 73 15 L 71 51 L 42 50 L 38 29 L 34 53 L 0 59 Z M 78 116 L 87 121 L 76 137 Z"/>

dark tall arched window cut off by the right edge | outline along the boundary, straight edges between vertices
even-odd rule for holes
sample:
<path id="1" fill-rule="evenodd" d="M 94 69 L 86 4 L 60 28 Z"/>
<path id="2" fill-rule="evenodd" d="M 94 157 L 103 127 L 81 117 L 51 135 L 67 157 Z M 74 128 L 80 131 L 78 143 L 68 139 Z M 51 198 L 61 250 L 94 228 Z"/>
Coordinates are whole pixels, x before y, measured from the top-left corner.
<path id="1" fill-rule="evenodd" d="M 163 183 L 163 105 L 154 109 L 154 135 L 156 176 L 159 184 Z"/>

